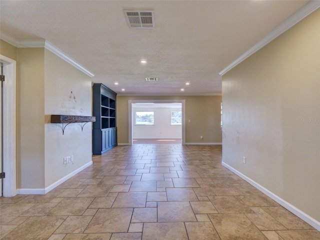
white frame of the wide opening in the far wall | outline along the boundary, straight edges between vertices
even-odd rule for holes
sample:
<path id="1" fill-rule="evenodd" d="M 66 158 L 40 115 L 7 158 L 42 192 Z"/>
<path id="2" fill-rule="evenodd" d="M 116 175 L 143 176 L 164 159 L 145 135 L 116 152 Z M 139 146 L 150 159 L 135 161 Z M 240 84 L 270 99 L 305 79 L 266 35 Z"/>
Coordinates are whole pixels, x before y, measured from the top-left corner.
<path id="1" fill-rule="evenodd" d="M 128 100 L 128 144 L 132 145 L 132 103 L 181 103 L 182 111 L 182 144 L 185 144 L 185 99 L 171 100 Z"/>

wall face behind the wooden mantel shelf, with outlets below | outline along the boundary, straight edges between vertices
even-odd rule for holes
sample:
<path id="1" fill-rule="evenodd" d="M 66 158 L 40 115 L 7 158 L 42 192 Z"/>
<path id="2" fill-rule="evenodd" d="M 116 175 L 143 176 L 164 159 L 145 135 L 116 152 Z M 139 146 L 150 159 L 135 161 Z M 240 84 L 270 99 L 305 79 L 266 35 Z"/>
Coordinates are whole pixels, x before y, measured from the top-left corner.
<path id="1" fill-rule="evenodd" d="M 91 161 L 92 123 L 81 132 L 81 123 L 66 126 L 50 123 L 51 114 L 91 116 L 91 78 L 44 50 L 44 115 L 45 115 L 45 187 Z M 75 99 L 73 99 L 73 95 Z M 73 164 L 62 164 L 63 157 L 73 155 Z M 54 169 L 54 170 L 52 170 Z"/>

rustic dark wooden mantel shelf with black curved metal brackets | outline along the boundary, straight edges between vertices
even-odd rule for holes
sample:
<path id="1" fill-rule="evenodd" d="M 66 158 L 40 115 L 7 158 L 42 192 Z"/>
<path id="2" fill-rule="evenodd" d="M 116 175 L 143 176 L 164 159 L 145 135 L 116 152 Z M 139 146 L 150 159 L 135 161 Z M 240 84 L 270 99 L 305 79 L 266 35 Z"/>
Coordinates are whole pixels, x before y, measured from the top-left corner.
<path id="1" fill-rule="evenodd" d="M 76 116 L 76 115 L 51 115 L 51 123 L 62 123 L 62 134 L 65 127 L 72 122 L 81 122 L 81 131 L 88 122 L 94 122 L 95 116 Z M 84 124 L 82 124 L 84 122 Z M 64 123 L 66 123 L 64 125 Z"/>

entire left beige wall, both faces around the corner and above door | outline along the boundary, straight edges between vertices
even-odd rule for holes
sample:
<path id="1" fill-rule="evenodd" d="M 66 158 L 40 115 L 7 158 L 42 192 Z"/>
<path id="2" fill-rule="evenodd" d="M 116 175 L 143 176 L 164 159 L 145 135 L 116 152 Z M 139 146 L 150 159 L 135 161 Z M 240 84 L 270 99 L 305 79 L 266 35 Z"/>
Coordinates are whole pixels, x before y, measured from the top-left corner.
<path id="1" fill-rule="evenodd" d="M 83 132 L 69 124 L 64 135 L 49 123 L 51 114 L 92 114 L 91 78 L 43 47 L 0 44 L 0 54 L 17 60 L 17 188 L 43 189 L 91 161 L 91 123 Z M 74 164 L 62 164 L 71 154 Z"/>

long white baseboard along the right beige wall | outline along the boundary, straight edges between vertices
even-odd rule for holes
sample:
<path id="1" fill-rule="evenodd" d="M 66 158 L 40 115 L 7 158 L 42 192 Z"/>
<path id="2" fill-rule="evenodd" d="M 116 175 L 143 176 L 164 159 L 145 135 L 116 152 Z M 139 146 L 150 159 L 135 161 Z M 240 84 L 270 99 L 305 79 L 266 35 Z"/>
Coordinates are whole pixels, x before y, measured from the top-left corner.
<path id="1" fill-rule="evenodd" d="M 223 161 L 222 161 L 222 165 L 225 166 L 226 168 L 228 168 L 229 170 L 231 170 L 232 172 L 234 172 L 235 174 L 237 174 L 239 177 L 241 177 L 245 181 L 249 182 L 251 185 L 253 185 L 257 189 L 262 191 L 264 194 L 266 194 L 267 196 L 269 196 L 273 200 L 275 200 L 281 206 L 283 206 L 284 208 L 286 208 L 287 210 L 292 212 L 294 215 L 296 215 L 297 217 L 301 218 L 303 221 L 305 221 L 306 223 L 310 224 L 315 229 L 320 231 L 320 222 L 319 221 L 315 220 L 313 217 L 309 216 L 305 212 L 303 212 L 300 209 L 296 208 L 295 206 L 293 206 L 289 202 L 283 200 L 281 197 L 275 195 L 273 192 L 271 192 L 268 189 L 266 189 L 265 187 L 261 186 L 259 183 L 253 181 L 251 178 L 247 177 L 246 175 L 243 175 L 241 172 L 239 172 L 238 170 L 234 169 L 232 166 L 229 166 L 228 164 L 226 164 Z"/>

